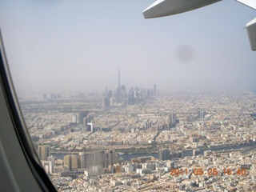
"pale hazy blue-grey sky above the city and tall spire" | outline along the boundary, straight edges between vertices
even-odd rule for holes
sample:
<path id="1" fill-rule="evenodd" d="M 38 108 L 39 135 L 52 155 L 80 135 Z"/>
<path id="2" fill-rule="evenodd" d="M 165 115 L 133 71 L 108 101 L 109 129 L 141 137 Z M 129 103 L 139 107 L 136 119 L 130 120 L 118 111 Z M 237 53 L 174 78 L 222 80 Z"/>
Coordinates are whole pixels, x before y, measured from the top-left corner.
<path id="1" fill-rule="evenodd" d="M 154 0 L 0 2 L 0 24 L 18 94 L 69 93 L 121 84 L 177 91 L 256 90 L 256 52 L 235 1 L 145 19 Z"/>

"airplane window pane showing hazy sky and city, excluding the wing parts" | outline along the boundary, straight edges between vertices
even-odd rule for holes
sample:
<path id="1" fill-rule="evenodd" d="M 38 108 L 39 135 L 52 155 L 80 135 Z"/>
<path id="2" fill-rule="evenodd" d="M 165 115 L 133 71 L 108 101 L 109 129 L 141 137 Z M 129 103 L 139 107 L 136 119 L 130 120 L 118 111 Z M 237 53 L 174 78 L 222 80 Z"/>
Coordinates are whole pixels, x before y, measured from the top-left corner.
<path id="1" fill-rule="evenodd" d="M 0 2 L 43 170 L 60 191 L 255 191 L 255 10 L 146 19 L 153 2 Z"/>

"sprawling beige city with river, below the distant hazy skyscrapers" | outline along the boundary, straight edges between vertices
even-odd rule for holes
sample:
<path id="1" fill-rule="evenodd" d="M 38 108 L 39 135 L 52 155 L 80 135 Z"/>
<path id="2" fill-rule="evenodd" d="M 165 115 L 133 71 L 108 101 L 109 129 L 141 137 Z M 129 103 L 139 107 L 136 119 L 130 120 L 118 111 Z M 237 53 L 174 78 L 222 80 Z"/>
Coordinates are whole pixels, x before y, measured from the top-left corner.
<path id="1" fill-rule="evenodd" d="M 39 158 L 50 148 L 41 162 L 58 190 L 253 191 L 255 95 L 157 94 L 107 110 L 95 98 L 20 104 Z"/>

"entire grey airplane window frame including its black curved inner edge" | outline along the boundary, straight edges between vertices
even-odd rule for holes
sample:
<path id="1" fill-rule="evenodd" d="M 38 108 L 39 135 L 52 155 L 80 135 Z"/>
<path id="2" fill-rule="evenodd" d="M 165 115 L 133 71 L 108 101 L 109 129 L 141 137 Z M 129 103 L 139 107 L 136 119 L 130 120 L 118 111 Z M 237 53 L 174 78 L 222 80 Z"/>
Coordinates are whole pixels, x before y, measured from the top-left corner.
<path id="1" fill-rule="evenodd" d="M 5 159 L 0 166 L 1 170 L 7 170 L 7 180 L 11 183 L 2 183 L 0 186 L 6 189 L 8 184 L 13 186 L 15 183 L 16 186 L 12 187 L 14 191 L 37 191 L 36 186 L 42 191 L 57 191 L 42 168 L 26 129 L 11 79 L 1 29 L 0 55 L 0 94 L 3 98 L 0 99 L 0 109 L 4 114 L 0 115 L 0 158 Z M 26 181 L 28 178 L 29 181 Z M 32 178 L 34 181 L 31 181 Z"/>

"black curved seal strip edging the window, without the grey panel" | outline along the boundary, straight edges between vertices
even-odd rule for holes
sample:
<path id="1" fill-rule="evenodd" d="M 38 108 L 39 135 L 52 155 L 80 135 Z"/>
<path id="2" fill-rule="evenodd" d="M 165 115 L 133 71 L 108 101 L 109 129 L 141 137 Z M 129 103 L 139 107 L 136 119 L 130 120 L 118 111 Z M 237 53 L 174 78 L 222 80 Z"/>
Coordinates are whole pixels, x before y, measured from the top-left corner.
<path id="1" fill-rule="evenodd" d="M 26 123 L 24 122 L 24 119 L 22 117 L 22 111 L 20 110 L 20 106 L 18 104 L 18 99 L 14 90 L 14 84 L 11 80 L 11 75 L 8 67 L 8 62 L 6 59 L 6 52 L 4 49 L 4 42 L 2 39 L 1 30 L 0 30 L 0 55 L 1 55 L 1 59 L 0 59 L 1 90 L 0 91 L 2 91 L 3 98 L 4 98 L 3 99 L 4 101 L 2 101 L 2 104 L 6 105 L 8 109 L 8 112 L 9 112 L 8 115 L 12 122 L 12 126 L 16 134 L 16 138 L 14 138 L 14 135 L 8 135 L 8 136 L 13 140 L 15 139 L 18 140 L 18 143 L 22 149 L 23 157 L 26 158 L 27 165 L 30 167 L 30 172 L 33 174 L 34 179 L 37 182 L 39 188 L 42 191 L 57 191 L 53 183 L 50 181 L 50 178 L 48 178 L 48 175 L 46 174 L 45 170 L 43 170 L 41 163 L 38 159 L 38 156 L 34 150 L 33 143 L 30 139 L 30 134 L 26 129 Z M 0 134 L 2 134 L 3 129 L 4 127 L 1 127 Z M 6 135 L 2 135 L 2 137 L 6 137 Z M 4 151 L 2 150 L 1 153 L 4 153 Z M 20 158 L 20 157 L 17 157 L 17 158 Z M 19 165 L 19 166 L 22 166 L 22 165 Z M 24 175 L 23 179 L 26 179 L 26 175 Z"/>

